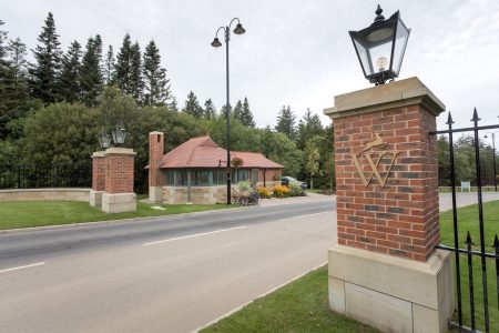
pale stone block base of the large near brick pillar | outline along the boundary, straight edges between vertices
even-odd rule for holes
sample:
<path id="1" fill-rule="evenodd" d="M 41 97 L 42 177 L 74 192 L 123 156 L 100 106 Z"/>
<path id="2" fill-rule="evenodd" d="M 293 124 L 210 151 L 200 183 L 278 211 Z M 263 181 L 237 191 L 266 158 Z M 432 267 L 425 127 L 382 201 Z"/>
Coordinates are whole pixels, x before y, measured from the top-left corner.
<path id="1" fill-rule="evenodd" d="M 342 245 L 329 249 L 329 307 L 384 332 L 447 332 L 451 253 L 426 262 Z"/>

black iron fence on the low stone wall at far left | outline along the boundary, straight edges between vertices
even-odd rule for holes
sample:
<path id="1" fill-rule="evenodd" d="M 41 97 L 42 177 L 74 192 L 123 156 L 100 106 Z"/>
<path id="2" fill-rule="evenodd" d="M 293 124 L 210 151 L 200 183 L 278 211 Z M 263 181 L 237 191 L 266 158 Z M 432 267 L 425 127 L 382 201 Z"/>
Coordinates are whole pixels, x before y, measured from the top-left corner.
<path id="1" fill-rule="evenodd" d="M 0 164 L 0 189 L 91 188 L 92 164 Z"/>

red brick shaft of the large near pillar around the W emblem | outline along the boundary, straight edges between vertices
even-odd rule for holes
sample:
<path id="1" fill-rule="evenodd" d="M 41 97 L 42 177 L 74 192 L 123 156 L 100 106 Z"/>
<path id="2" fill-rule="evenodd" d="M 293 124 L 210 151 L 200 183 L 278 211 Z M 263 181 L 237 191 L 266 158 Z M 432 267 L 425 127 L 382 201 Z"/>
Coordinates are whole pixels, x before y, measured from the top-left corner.
<path id="1" fill-rule="evenodd" d="M 439 242 L 437 144 L 428 132 L 436 118 L 420 105 L 334 119 L 338 244 L 425 262 Z M 388 144 L 373 152 L 399 151 L 381 188 L 366 188 L 352 154 L 379 132 Z M 376 155 L 375 155 L 376 157 Z M 390 162 L 381 160 L 384 175 Z M 359 158 L 366 174 L 370 168 Z"/>

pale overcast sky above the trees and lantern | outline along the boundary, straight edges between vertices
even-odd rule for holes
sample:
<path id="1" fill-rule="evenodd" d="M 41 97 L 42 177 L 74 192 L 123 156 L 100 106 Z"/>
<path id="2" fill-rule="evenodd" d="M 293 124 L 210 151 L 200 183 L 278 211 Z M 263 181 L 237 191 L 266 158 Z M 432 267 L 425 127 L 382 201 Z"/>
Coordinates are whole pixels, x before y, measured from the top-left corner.
<path id="1" fill-rule="evenodd" d="M 370 0 L 0 0 L 9 38 L 34 48 L 49 11 L 65 51 L 100 33 L 118 51 L 129 32 L 142 49 L 154 39 L 172 91 L 184 105 L 225 101 L 225 49 L 210 46 L 218 27 L 241 19 L 246 33 L 232 36 L 231 103 L 246 95 L 258 127 L 274 125 L 282 105 L 299 119 L 307 108 L 322 115 L 334 97 L 370 87 L 348 30 L 375 18 Z M 446 104 L 456 125 L 468 127 L 476 107 L 481 124 L 498 123 L 499 1 L 419 0 L 380 3 L 386 18 L 400 10 L 411 28 L 400 78 L 417 75 Z M 222 36 L 221 36 L 222 37 Z M 223 38 L 221 38 L 223 40 Z M 438 127 L 444 129 L 446 115 Z"/>

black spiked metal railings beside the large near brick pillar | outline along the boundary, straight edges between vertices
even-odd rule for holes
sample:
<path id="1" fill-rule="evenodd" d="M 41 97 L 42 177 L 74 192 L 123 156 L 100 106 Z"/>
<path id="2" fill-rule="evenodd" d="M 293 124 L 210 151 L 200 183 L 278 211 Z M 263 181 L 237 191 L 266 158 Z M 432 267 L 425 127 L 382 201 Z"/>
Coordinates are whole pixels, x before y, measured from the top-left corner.
<path id="1" fill-rule="evenodd" d="M 479 127 L 478 122 L 480 119 L 478 118 L 477 109 L 473 111 L 473 117 L 471 119 L 473 122 L 473 127 L 471 128 L 462 128 L 462 129 L 452 129 L 452 117 L 449 112 L 447 124 L 449 125 L 448 130 L 432 132 L 430 134 L 448 134 L 449 135 L 449 158 L 450 158 L 450 183 L 451 183 L 451 195 L 452 195 L 452 226 L 454 226 L 454 246 L 448 245 L 437 245 L 437 249 L 452 251 L 455 253 L 455 270 L 456 270 L 456 299 L 457 299 L 457 314 L 455 319 L 457 322 L 452 322 L 451 326 L 459 327 L 462 331 L 477 331 L 483 330 L 486 332 L 499 332 L 499 325 L 497 324 L 498 313 L 493 313 L 492 317 L 492 326 L 491 326 L 491 317 L 490 311 L 499 310 L 499 240 L 497 233 L 493 238 L 490 235 L 487 236 L 485 232 L 483 225 L 483 204 L 482 204 L 482 170 L 480 165 L 480 140 L 479 140 L 479 131 L 483 130 L 493 130 L 499 129 L 499 125 L 487 125 Z M 477 185 L 477 195 L 478 195 L 478 226 L 479 226 L 479 250 L 473 248 L 475 243 L 471 240 L 471 235 L 469 230 L 466 231 L 467 236 L 466 241 L 460 244 L 459 242 L 459 232 L 458 232 L 458 212 L 456 208 L 456 164 L 455 164 L 455 153 L 454 153 L 454 139 L 452 133 L 458 132 L 472 132 L 473 133 L 473 145 L 475 145 L 475 164 L 476 164 L 476 185 Z M 496 159 L 496 157 L 495 157 Z M 499 218 L 499 216 L 498 216 Z M 499 223 L 499 219 L 498 219 Z M 489 239 L 490 238 L 490 239 Z M 462 245 L 464 249 L 460 248 Z M 489 250 L 490 249 L 490 250 Z M 490 251 L 490 252 L 488 252 Z M 473 261 L 476 265 L 479 264 L 481 266 L 481 276 L 473 276 Z M 487 279 L 487 263 L 495 264 L 495 286 L 496 292 L 491 292 L 489 294 L 489 285 Z M 461 266 L 468 266 L 468 272 L 465 273 L 465 279 L 467 275 L 467 284 L 468 291 L 467 294 L 464 294 L 462 291 L 462 281 L 461 281 Z M 466 269 L 465 269 L 466 270 Z M 493 269 L 492 269 L 493 270 Z M 490 271 L 490 269 L 489 269 Z M 475 272 L 477 273 L 477 272 Z M 475 274 L 477 275 L 477 274 Z M 475 282 L 473 282 L 475 279 Z M 481 279 L 477 281 L 477 279 Z M 466 280 L 465 280 L 466 282 Z M 466 285 L 465 285 L 466 289 Z M 481 289 L 481 291 L 480 291 Z M 464 304 L 464 296 L 469 297 L 469 304 Z M 490 300 L 491 299 L 491 300 Z M 480 302 L 482 300 L 482 302 Z M 490 305 L 489 306 L 489 301 Z M 477 304 L 478 303 L 478 304 Z M 483 303 L 482 306 L 480 303 Z M 476 306 L 477 305 L 477 306 Z M 497 307 L 495 306 L 497 305 Z M 466 306 L 466 307 L 465 307 Z M 468 312 L 469 310 L 469 312 Z M 483 312 L 482 312 L 483 311 Z M 466 322 L 465 315 L 466 313 Z M 496 324 L 493 323 L 496 322 Z"/>

